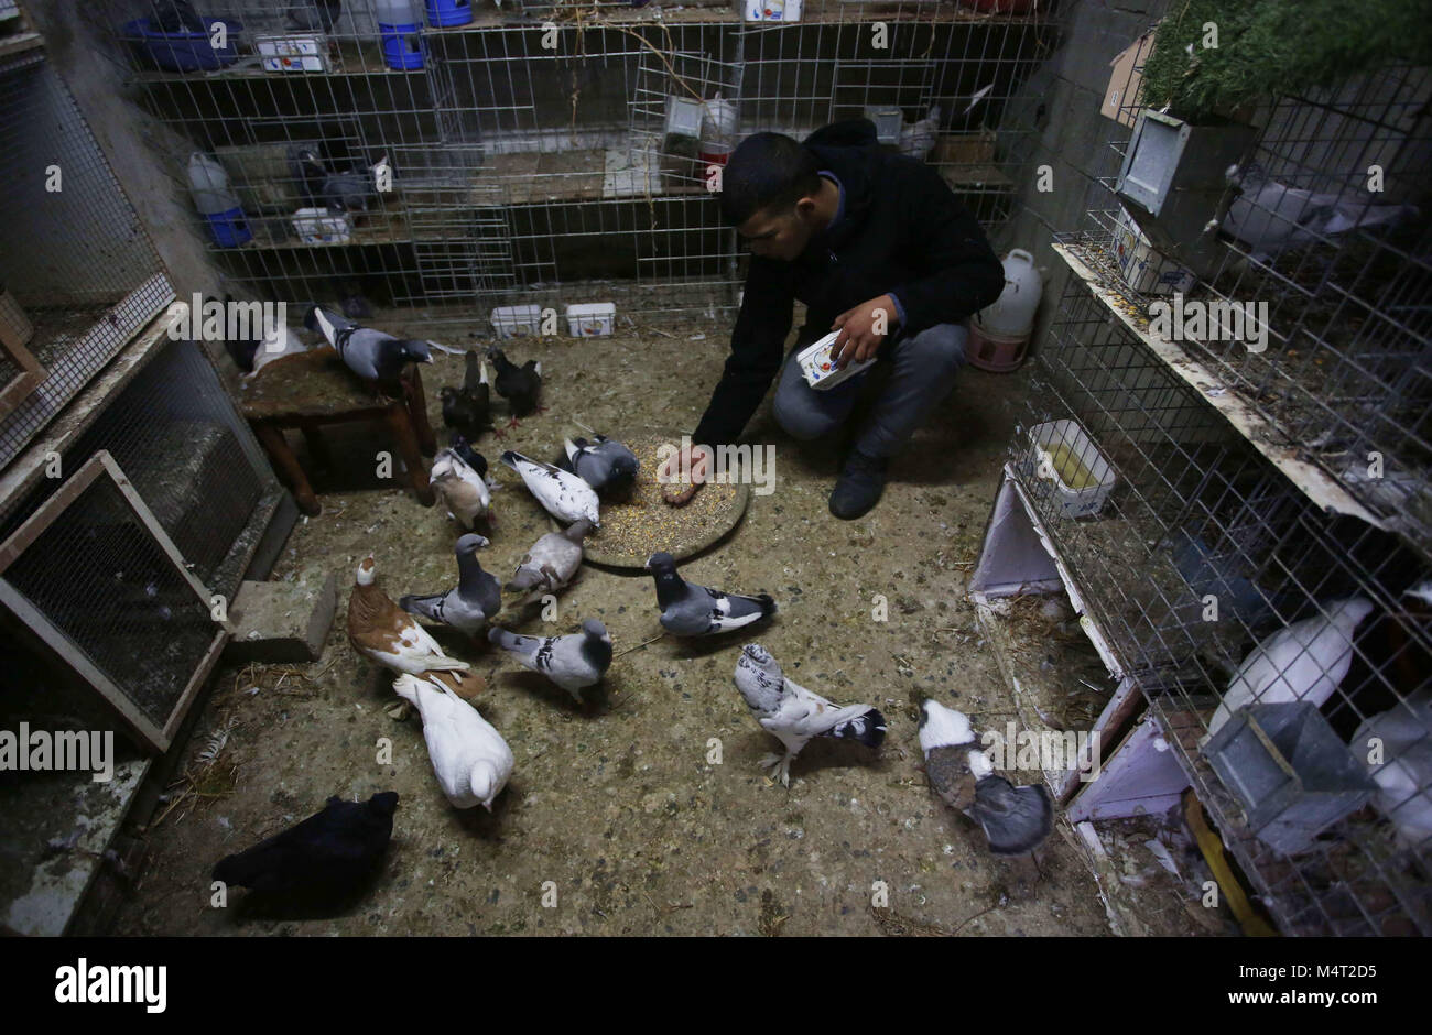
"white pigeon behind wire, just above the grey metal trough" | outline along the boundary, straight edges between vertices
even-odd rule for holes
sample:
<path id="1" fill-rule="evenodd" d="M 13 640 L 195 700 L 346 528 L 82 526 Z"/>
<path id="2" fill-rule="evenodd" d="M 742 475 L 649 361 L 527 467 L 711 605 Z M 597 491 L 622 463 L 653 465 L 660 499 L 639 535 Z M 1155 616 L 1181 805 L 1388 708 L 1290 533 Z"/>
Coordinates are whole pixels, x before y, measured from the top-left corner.
<path id="1" fill-rule="evenodd" d="M 1349 597 L 1322 610 L 1322 614 L 1273 633 L 1243 659 L 1209 720 L 1207 737 L 1244 704 L 1306 700 L 1322 707 L 1333 696 L 1352 667 L 1352 634 L 1358 623 L 1372 613 L 1372 601 Z"/>

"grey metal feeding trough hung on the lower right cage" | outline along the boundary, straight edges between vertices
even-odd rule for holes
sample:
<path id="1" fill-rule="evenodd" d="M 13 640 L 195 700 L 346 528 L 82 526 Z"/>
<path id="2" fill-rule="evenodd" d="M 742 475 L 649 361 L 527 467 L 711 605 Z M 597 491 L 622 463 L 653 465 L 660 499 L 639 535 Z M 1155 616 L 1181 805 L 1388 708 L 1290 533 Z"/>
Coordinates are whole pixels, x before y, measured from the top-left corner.
<path id="1" fill-rule="evenodd" d="M 1250 704 L 1209 740 L 1203 754 L 1243 805 L 1249 830 L 1285 855 L 1307 849 L 1378 790 L 1307 701 Z"/>

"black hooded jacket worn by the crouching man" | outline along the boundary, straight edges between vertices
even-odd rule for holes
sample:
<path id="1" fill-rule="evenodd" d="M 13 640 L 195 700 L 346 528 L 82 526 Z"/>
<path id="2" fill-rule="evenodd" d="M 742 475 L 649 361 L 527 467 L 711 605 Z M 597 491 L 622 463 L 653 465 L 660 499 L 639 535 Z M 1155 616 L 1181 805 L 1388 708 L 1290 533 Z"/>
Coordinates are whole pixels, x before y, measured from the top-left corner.
<path id="1" fill-rule="evenodd" d="M 693 437 L 700 445 L 735 441 L 756 412 L 785 358 L 793 299 L 806 303 L 803 338 L 815 341 L 842 312 L 886 292 L 905 306 L 899 334 L 912 335 L 962 321 L 1004 289 L 1004 269 L 975 218 L 935 169 L 881 150 L 874 123 L 833 123 L 805 147 L 839 178 L 845 212 L 795 262 L 750 258 L 730 358 Z"/>

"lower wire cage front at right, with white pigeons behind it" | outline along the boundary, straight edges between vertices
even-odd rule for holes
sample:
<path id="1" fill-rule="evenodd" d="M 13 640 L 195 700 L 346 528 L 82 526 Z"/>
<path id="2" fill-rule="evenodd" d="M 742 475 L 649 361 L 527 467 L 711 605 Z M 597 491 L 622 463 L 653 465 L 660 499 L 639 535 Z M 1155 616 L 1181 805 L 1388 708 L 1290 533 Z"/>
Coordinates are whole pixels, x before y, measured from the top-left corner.
<path id="1" fill-rule="evenodd" d="M 1428 593 L 1425 563 L 1396 535 L 1323 512 L 1108 316 L 1070 283 L 1014 450 L 1085 614 L 1176 733 L 1286 932 L 1428 933 L 1432 607 L 1409 596 Z M 1259 803 L 1223 784 L 1206 749 L 1244 704 L 1299 697 L 1376 790 L 1274 850 L 1250 827 Z M 1362 762 L 1370 737 L 1385 764 Z"/>

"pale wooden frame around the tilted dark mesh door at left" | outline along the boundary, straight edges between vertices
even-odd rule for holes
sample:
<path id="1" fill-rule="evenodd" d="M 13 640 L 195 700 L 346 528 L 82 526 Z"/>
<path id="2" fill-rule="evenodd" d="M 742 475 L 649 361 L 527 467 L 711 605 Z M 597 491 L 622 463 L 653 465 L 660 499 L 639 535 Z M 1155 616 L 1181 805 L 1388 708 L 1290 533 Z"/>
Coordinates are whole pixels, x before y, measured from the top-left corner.
<path id="1" fill-rule="evenodd" d="M 179 729 L 179 723 L 183 721 L 185 713 L 188 713 L 195 694 L 199 691 L 199 687 L 203 686 L 205 679 L 208 679 L 209 671 L 213 669 L 213 663 L 219 657 L 219 651 L 233 633 L 233 624 L 228 620 L 215 621 L 218 631 L 215 633 L 213 641 L 199 660 L 199 666 L 195 669 L 189 681 L 185 684 L 185 689 L 180 691 L 179 699 L 175 701 L 173 709 L 170 710 L 163 726 L 156 726 L 139 710 L 139 707 L 135 706 L 129 696 L 99 666 L 96 666 L 73 640 L 70 640 L 62 628 L 52 623 L 4 578 L 4 573 L 9 571 L 10 565 L 14 564 L 20 554 L 23 554 L 27 547 L 30 547 L 52 524 L 54 524 L 54 520 L 66 508 L 69 508 L 69 505 L 73 504 L 86 488 L 102 477 L 110 478 L 125 502 L 129 504 L 135 517 L 145 525 L 149 534 L 155 538 L 155 543 L 159 544 L 160 550 L 163 550 L 163 553 L 173 563 L 175 570 L 183 581 L 193 590 L 200 606 L 206 611 L 211 608 L 209 590 L 205 588 L 205 585 L 185 567 L 185 560 L 179 553 L 179 548 L 173 544 L 173 540 L 169 538 L 168 533 L 165 533 L 163 527 L 155 518 L 143 498 L 140 498 L 129 478 L 125 477 L 125 472 L 120 470 L 119 464 L 115 462 L 115 458 L 107 450 L 99 450 L 93 457 L 90 457 L 84 465 L 74 475 L 72 475 L 57 492 L 54 492 L 54 495 L 40 504 L 34 514 L 26 518 L 24 524 L 21 524 L 10 538 L 0 543 L 0 606 L 9 608 L 37 637 L 40 637 L 40 640 L 43 640 L 50 650 L 53 650 L 60 660 L 64 661 L 64 664 L 73 669 L 76 674 L 95 687 L 95 690 L 105 697 L 110 707 L 115 709 L 120 720 L 129 727 L 140 743 L 147 744 L 155 752 L 166 752 L 169 750 L 175 732 Z"/>

